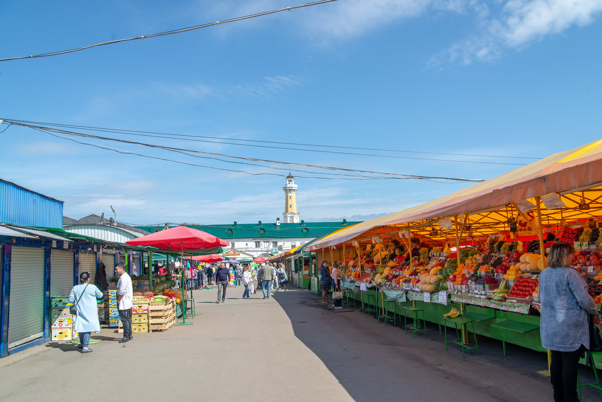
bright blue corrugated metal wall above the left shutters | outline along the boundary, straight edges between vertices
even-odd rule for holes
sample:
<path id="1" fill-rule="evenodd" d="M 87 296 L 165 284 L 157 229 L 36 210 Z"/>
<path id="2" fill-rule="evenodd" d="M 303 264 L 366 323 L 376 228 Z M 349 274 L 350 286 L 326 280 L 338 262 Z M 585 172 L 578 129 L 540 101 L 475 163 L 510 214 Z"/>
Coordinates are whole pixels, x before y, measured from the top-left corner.
<path id="1" fill-rule="evenodd" d="M 0 180 L 0 222 L 63 227 L 63 202 Z"/>

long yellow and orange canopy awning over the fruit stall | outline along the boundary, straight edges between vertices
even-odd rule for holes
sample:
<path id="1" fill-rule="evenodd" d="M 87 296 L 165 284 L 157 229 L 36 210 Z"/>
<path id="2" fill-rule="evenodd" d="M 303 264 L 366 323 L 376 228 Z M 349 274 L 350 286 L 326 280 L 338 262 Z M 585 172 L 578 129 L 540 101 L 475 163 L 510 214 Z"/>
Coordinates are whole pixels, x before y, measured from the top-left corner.
<path id="1" fill-rule="evenodd" d="M 491 232 L 504 230 L 510 218 L 517 216 L 514 202 L 531 200 L 550 193 L 561 194 L 565 207 L 543 211 L 545 220 L 576 220 L 593 216 L 592 209 L 602 208 L 602 140 L 594 141 L 565 152 L 559 152 L 545 159 L 521 167 L 445 197 L 403 209 L 330 233 L 308 247 L 318 250 L 334 246 L 344 241 L 367 235 L 377 228 L 388 227 L 428 227 L 443 217 L 469 214 L 470 222 L 477 223 L 480 229 L 489 227 Z M 394 226 L 394 227 L 392 227 Z"/>

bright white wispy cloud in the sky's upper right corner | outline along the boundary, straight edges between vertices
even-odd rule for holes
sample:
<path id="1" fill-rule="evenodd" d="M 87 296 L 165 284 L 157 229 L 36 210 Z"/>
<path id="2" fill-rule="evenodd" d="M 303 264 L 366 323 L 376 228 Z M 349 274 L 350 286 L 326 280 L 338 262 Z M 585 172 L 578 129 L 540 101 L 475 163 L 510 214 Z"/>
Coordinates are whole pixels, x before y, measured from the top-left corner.
<path id="1" fill-rule="evenodd" d="M 429 66 L 445 61 L 470 64 L 496 60 L 507 49 L 524 48 L 574 25 L 588 25 L 600 12 L 600 0 L 509 0 L 494 16 L 480 17 L 479 33 L 433 57 Z"/>

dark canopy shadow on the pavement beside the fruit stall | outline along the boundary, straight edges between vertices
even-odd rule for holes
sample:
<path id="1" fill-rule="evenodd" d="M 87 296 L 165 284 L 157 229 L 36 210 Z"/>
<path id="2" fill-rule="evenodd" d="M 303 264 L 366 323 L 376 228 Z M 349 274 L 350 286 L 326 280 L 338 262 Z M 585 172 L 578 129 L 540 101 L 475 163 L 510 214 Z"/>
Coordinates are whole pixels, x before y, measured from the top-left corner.
<path id="1" fill-rule="evenodd" d="M 480 395 L 492 401 L 524 402 L 525 398 L 517 397 L 521 387 L 527 387 L 526 395 L 538 391 L 538 399 L 530 401 L 551 400 L 549 378 L 537 373 L 547 369 L 545 353 L 508 345 L 509 355 L 503 356 L 500 341 L 479 337 L 480 355 L 467 352 L 463 360 L 456 345 L 445 351 L 444 336 L 436 324 L 427 326 L 428 338 L 414 339 L 411 333 L 405 334 L 403 321 L 385 326 L 359 309 L 335 311 L 332 305 L 321 303 L 321 295 L 305 289 L 276 292 L 274 298 L 288 315 L 296 338 L 357 402 L 399 401 L 400 395 L 428 400 L 429 394 L 436 399 L 448 392 L 460 394 L 447 400 L 472 401 Z M 582 382 L 594 380 L 585 367 L 580 367 L 580 376 Z M 438 392 L 433 395 L 434 390 Z M 597 393 L 584 388 L 583 401 L 590 400 L 597 400 Z"/>

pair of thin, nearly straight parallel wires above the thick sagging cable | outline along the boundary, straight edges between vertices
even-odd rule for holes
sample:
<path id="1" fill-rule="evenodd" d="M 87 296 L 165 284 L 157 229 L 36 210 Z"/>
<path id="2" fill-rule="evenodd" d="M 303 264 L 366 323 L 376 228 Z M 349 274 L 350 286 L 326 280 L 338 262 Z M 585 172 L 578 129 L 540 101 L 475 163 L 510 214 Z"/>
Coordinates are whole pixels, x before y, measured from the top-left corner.
<path id="1" fill-rule="evenodd" d="M 79 128 L 79 129 L 87 129 L 90 131 L 103 131 L 103 132 L 113 132 L 116 134 L 129 134 L 129 133 L 141 133 L 141 134 L 159 134 L 159 138 L 169 138 L 176 140 L 186 140 L 186 138 L 177 138 L 177 137 L 192 137 L 192 138 L 209 138 L 211 140 L 223 140 L 223 141 L 247 141 L 252 143 L 265 143 L 265 144 L 286 144 L 286 145 L 299 145 L 299 146 L 310 146 L 310 147 L 325 147 L 325 148 L 340 148 L 340 149 L 361 149 L 361 150 L 376 150 L 383 152 L 405 152 L 405 153 L 426 153 L 429 155 L 455 155 L 455 156 L 478 156 L 480 158 L 504 158 L 504 159 L 542 159 L 535 158 L 531 156 L 501 156 L 501 155 L 476 155 L 473 153 L 445 153 L 445 152 L 427 152 L 427 151 L 409 151 L 409 150 L 397 150 L 397 149 L 379 149 L 379 148 L 362 148 L 362 147 L 349 147 L 349 146 L 338 146 L 338 145 L 318 145 L 318 144 L 303 144 L 303 143 L 285 143 L 280 141 L 261 141 L 261 140 L 244 140 L 241 138 L 226 138 L 226 137 L 210 137 L 207 135 L 188 135 L 188 134 L 170 134 L 165 132 L 154 132 L 154 131 L 138 131 L 138 130 L 126 130 L 126 129 L 112 129 L 112 128 L 104 128 L 104 127 L 94 127 L 94 126 L 78 126 L 78 125 L 68 125 L 68 124 L 59 124 L 59 123 L 46 123 L 46 122 L 31 122 L 28 120 L 13 120 L 14 122 L 21 123 L 29 123 L 34 125 L 46 125 L 46 126 L 56 126 L 63 128 Z M 161 137 L 161 136 L 177 136 L 177 137 Z M 211 142 L 211 141 L 207 141 Z M 216 143 L 222 143 L 220 141 L 214 141 Z M 238 145 L 228 143 L 229 145 Z M 299 150 L 297 148 L 285 148 L 285 149 L 294 149 Z M 361 154 L 365 155 L 365 154 Z M 382 155 L 376 155 L 382 156 Z M 434 159 L 439 160 L 439 159 Z M 464 161 L 463 161 L 464 162 Z"/>

